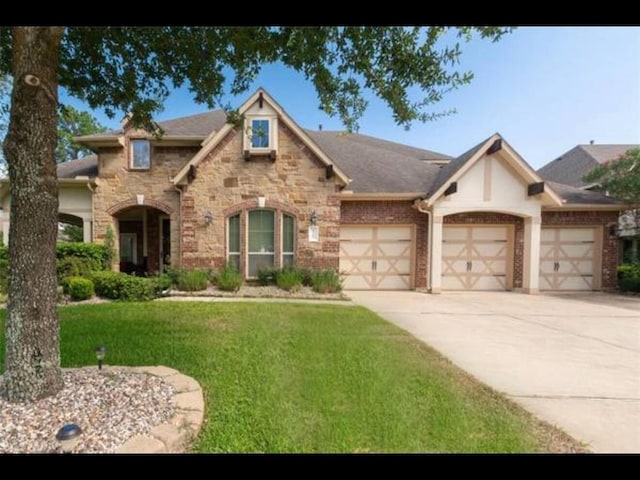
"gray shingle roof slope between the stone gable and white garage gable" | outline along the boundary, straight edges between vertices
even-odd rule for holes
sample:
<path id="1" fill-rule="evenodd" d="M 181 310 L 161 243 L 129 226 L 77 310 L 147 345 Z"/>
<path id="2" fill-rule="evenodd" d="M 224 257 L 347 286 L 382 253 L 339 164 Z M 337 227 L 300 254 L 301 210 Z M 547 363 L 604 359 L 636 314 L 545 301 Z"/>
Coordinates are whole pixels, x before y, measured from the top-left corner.
<path id="1" fill-rule="evenodd" d="M 356 194 L 424 195 L 441 168 L 428 161 L 451 158 L 358 133 L 306 132 L 351 177 L 349 190 Z"/>

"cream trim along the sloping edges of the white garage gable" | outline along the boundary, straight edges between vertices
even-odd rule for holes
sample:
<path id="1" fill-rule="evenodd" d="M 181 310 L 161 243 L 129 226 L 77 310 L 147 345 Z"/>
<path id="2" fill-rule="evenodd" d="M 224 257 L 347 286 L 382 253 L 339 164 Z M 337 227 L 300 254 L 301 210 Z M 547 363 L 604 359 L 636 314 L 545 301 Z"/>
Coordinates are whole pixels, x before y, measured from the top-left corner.
<path id="1" fill-rule="evenodd" d="M 444 195 L 449 184 L 462 177 L 465 172 L 467 172 L 477 161 L 480 160 L 480 158 L 482 158 L 485 153 L 487 153 L 487 150 L 490 149 L 496 141 L 501 142 L 500 148 L 506 153 L 503 158 L 506 159 L 511 167 L 527 183 L 538 183 L 542 181 L 542 179 L 536 174 L 531 166 L 525 162 L 520 154 L 518 154 L 518 152 L 516 152 L 499 133 L 495 133 L 486 140 L 477 144 L 475 147 L 464 152 L 448 165 L 444 166 L 429 191 L 428 198 L 426 199 L 427 206 L 433 205 L 436 200 Z M 562 199 L 553 191 L 552 188 L 546 188 L 542 195 L 551 200 L 555 205 L 562 205 Z"/>

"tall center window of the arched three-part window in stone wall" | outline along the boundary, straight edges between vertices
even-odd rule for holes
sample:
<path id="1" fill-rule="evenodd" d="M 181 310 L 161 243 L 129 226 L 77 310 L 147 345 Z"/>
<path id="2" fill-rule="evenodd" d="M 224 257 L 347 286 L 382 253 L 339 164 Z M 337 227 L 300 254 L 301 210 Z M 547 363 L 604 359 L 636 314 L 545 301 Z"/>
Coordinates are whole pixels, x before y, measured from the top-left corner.
<path id="1" fill-rule="evenodd" d="M 271 210 L 249 212 L 249 277 L 257 277 L 258 270 L 274 265 L 275 214 Z"/>

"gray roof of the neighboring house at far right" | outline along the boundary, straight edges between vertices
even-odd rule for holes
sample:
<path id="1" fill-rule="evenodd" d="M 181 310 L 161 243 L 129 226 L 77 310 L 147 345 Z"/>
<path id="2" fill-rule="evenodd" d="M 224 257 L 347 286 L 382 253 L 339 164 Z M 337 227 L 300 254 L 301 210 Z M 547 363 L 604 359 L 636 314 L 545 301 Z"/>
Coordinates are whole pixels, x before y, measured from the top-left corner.
<path id="1" fill-rule="evenodd" d="M 584 182 L 582 177 L 598 165 L 617 159 L 631 148 L 640 148 L 640 145 L 576 145 L 539 168 L 538 174 L 546 180 L 588 188 L 592 184 Z"/>

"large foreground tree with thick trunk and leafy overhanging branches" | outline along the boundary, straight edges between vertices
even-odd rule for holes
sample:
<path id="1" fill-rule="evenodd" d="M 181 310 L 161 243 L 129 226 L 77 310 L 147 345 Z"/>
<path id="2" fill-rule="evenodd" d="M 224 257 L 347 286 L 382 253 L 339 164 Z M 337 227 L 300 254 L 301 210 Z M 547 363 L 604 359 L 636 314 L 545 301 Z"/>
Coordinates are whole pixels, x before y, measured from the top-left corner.
<path id="1" fill-rule="evenodd" d="M 4 395 L 28 401 L 61 385 L 56 313 L 58 87 L 113 117 L 132 112 L 152 128 L 170 87 L 188 82 L 197 102 L 220 105 L 248 89 L 262 65 L 301 72 L 320 106 L 357 129 L 363 90 L 382 98 L 399 125 L 437 118 L 428 107 L 471 80 L 459 72 L 451 31 L 499 39 L 499 27 L 13 27 L 0 29 L 0 75 L 13 76 L 4 153 L 11 185 L 9 304 Z M 420 92 L 412 100 L 409 92 Z M 445 112 L 446 113 L 446 112 Z"/>

